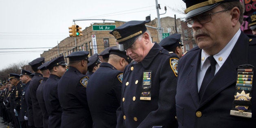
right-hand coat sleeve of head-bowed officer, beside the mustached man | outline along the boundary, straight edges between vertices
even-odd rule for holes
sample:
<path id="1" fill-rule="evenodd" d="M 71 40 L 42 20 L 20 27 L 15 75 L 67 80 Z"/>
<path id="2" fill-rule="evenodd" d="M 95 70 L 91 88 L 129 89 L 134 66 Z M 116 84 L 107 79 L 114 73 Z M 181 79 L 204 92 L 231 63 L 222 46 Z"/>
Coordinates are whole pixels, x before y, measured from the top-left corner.
<path id="1" fill-rule="evenodd" d="M 179 60 L 179 59 L 178 59 Z M 166 59 L 160 69 L 158 109 L 152 111 L 141 122 L 138 128 L 152 128 L 152 126 L 177 127 L 175 95 L 177 76 L 171 68 L 170 59 Z"/>

